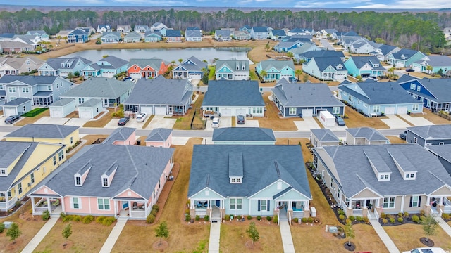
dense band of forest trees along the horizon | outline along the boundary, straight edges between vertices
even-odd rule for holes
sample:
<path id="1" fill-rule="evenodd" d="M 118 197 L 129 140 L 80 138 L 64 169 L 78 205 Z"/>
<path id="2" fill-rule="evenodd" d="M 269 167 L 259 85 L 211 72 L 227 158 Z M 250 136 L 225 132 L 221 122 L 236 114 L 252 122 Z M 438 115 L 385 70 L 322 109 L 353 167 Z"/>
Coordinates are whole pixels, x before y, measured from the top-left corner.
<path id="1" fill-rule="evenodd" d="M 185 30 L 197 26 L 204 32 L 212 32 L 221 27 L 271 26 L 277 28 L 335 28 L 342 32 L 354 30 L 364 37 L 386 41 L 405 48 L 425 52 L 438 52 L 445 39 L 443 27 L 451 26 L 449 13 L 379 13 L 327 12 L 327 11 L 250 11 L 228 9 L 218 12 L 174 11 L 49 11 L 42 13 L 35 9 L 0 13 L 0 32 L 25 33 L 27 30 L 45 30 L 56 34 L 78 26 L 97 27 L 99 24 L 152 25 L 163 22 L 168 27 Z"/>

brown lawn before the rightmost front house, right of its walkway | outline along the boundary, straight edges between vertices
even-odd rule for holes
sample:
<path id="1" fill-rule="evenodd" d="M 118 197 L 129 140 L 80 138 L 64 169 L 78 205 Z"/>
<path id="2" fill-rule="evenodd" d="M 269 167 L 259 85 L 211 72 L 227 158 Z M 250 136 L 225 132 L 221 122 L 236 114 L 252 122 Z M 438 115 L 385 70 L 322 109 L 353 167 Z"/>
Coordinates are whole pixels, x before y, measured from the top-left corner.
<path id="1" fill-rule="evenodd" d="M 420 238 L 425 237 L 423 226 L 420 224 L 384 226 L 383 228 L 401 252 L 416 247 L 426 247 L 420 242 Z M 431 236 L 431 239 L 435 243 L 434 247 L 442 247 L 445 250 L 451 249 L 451 238 L 440 226 L 437 226 L 436 234 Z"/>

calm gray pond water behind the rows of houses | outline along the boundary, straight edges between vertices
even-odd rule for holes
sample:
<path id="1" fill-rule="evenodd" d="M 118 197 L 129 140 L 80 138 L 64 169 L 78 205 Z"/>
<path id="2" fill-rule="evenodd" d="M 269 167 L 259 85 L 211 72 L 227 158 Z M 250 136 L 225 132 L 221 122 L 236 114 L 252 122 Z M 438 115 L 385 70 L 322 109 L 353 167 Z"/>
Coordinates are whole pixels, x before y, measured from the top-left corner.
<path id="1" fill-rule="evenodd" d="M 187 59 L 191 56 L 197 57 L 199 60 L 206 60 L 211 65 L 214 58 L 219 60 L 249 60 L 247 52 L 250 48 L 145 48 L 145 49 L 102 49 L 102 50 L 85 50 L 77 53 L 70 53 L 66 57 L 81 56 L 96 62 L 103 56 L 116 56 L 124 60 L 132 58 L 161 58 L 168 62 L 178 59 Z M 249 60 L 249 64 L 252 61 Z"/>

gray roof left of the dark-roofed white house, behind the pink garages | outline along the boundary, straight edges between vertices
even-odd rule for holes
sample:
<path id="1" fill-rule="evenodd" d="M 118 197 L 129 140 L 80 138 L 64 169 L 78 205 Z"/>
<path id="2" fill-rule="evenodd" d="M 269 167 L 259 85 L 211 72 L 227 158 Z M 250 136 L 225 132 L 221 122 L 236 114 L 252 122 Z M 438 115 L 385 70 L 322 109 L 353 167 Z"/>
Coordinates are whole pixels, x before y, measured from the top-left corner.
<path id="1" fill-rule="evenodd" d="M 185 105 L 192 96 L 192 84 L 185 79 L 139 79 L 124 104 Z"/>

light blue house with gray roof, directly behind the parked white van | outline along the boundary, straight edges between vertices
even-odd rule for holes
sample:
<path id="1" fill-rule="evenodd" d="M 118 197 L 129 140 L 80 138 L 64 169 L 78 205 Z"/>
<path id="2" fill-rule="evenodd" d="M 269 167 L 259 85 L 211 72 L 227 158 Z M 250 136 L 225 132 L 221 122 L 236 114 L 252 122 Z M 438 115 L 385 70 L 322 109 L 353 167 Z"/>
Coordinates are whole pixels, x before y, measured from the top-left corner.
<path id="1" fill-rule="evenodd" d="M 328 110 L 333 115 L 345 114 L 345 105 L 324 83 L 290 84 L 282 80 L 271 89 L 271 93 L 282 117 L 313 117 L 321 110 Z"/>

